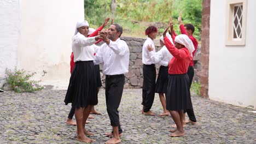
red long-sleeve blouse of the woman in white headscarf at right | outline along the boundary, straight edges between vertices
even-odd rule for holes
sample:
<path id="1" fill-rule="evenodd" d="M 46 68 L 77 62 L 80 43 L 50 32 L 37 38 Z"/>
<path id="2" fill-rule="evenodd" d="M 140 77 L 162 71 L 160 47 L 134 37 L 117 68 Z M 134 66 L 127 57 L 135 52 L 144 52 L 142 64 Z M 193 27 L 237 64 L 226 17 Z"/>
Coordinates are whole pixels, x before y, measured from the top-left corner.
<path id="1" fill-rule="evenodd" d="M 165 46 L 168 51 L 171 52 L 173 58 L 169 62 L 168 73 L 169 74 L 185 74 L 188 71 L 191 56 L 186 47 L 177 49 L 172 45 L 171 41 L 165 37 Z"/>

